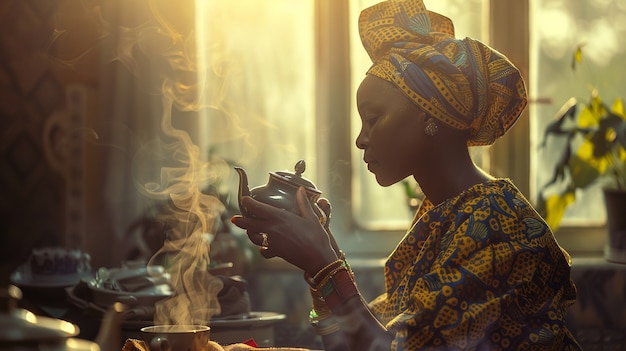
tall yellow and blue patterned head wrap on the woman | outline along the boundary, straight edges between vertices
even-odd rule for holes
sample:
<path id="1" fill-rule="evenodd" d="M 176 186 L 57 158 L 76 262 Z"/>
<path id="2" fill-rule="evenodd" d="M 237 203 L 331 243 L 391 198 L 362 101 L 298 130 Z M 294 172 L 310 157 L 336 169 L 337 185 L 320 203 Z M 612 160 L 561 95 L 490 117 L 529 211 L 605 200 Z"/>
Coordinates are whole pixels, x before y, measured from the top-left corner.
<path id="1" fill-rule="evenodd" d="M 469 129 L 469 146 L 493 144 L 526 107 L 519 70 L 479 41 L 455 39 L 452 21 L 422 0 L 363 10 L 359 33 L 374 62 L 367 73 L 394 83 L 427 115 Z"/>

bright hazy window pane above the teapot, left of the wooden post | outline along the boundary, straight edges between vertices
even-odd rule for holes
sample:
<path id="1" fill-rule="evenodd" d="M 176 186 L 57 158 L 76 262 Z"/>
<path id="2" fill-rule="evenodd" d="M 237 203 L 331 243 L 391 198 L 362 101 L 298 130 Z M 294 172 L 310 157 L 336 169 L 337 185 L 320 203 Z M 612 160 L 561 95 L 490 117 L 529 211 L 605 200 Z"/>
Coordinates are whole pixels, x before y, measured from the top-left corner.
<path id="1" fill-rule="evenodd" d="M 197 14 L 203 151 L 242 165 L 251 187 L 299 159 L 314 179 L 313 0 L 198 0 Z"/>

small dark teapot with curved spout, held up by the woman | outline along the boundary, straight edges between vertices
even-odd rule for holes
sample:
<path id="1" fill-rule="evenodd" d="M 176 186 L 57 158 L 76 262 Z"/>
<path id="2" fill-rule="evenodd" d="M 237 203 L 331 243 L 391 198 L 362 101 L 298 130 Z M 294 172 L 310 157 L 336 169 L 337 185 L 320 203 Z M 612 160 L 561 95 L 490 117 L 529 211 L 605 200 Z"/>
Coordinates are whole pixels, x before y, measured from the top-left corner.
<path id="1" fill-rule="evenodd" d="M 315 204 L 322 194 L 313 182 L 302 177 L 302 173 L 306 170 L 304 160 L 300 160 L 296 163 L 294 167 L 295 172 L 270 172 L 267 184 L 258 186 L 252 190 L 248 188 L 248 176 L 246 171 L 241 167 L 235 167 L 235 170 L 239 173 L 239 210 L 243 216 L 251 216 L 241 203 L 241 199 L 244 196 L 251 196 L 255 200 L 274 207 L 299 213 L 298 204 L 296 203 L 296 191 L 299 187 L 304 187 L 307 197 L 312 204 Z M 317 206 L 314 206 L 314 210 L 318 213 L 320 219 L 324 217 Z"/>

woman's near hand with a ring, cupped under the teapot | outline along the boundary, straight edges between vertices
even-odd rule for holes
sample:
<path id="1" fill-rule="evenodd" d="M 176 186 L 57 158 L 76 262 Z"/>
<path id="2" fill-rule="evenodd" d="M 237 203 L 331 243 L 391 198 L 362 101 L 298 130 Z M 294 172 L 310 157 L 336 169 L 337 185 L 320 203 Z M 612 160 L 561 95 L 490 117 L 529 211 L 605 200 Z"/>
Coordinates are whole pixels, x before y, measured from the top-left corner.
<path id="1" fill-rule="evenodd" d="M 245 229 L 254 244 L 261 246 L 260 251 L 264 257 L 282 257 L 311 276 L 328 263 L 337 260 L 337 243 L 327 230 L 330 219 L 328 201 L 320 200 L 321 206 L 314 209 L 313 206 L 318 205 L 309 202 L 302 187 L 296 193 L 300 215 L 256 201 L 249 196 L 242 201 L 250 217 L 237 215 L 231 221 Z M 320 216 L 321 213 L 324 215 Z"/>

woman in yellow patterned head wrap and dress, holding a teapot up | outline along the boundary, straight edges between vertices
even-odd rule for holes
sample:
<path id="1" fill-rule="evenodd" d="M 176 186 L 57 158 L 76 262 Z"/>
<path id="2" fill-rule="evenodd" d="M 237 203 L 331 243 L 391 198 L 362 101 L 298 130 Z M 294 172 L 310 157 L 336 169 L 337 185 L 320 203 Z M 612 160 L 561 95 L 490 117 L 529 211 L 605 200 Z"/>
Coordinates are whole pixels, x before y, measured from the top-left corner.
<path id="1" fill-rule="evenodd" d="M 357 92 L 356 145 L 380 185 L 413 176 L 426 195 L 388 258 L 386 293 L 363 301 L 313 209 L 330 216 L 330 205 L 310 204 L 303 189 L 300 216 L 245 198 L 254 218 L 233 223 L 265 257 L 304 271 L 327 350 L 580 349 L 564 324 L 576 294 L 568 254 L 511 181 L 478 168 L 468 150 L 519 118 L 519 71 L 455 39 L 451 21 L 421 0 L 368 8 L 359 31 L 373 65 Z"/>

